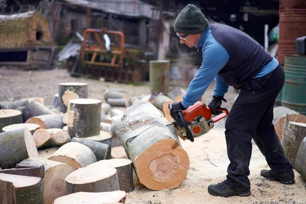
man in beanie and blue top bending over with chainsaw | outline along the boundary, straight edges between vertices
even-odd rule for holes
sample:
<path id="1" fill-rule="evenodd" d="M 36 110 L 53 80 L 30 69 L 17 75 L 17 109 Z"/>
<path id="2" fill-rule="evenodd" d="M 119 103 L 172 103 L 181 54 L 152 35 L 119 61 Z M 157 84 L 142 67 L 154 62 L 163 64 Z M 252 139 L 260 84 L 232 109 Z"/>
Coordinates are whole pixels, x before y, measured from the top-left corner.
<path id="1" fill-rule="evenodd" d="M 214 95 L 208 107 L 215 114 L 228 86 L 241 89 L 225 122 L 225 139 L 230 165 L 226 180 L 208 187 L 216 196 L 249 196 L 249 162 L 253 139 L 271 170 L 261 176 L 283 184 L 294 184 L 294 172 L 272 123 L 277 94 L 285 73 L 276 59 L 247 34 L 223 24 L 209 24 L 200 9 L 187 5 L 177 16 L 174 31 L 180 42 L 202 47 L 202 64 L 172 114 L 193 105 L 215 79 Z"/>

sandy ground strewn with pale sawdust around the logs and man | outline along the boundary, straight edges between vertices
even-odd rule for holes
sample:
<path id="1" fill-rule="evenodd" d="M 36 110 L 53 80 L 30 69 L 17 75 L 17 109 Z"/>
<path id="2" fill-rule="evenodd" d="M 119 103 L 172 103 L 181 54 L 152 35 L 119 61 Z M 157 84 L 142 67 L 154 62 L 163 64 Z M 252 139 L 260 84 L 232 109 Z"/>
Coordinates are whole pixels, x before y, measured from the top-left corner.
<path id="1" fill-rule="evenodd" d="M 53 95 L 58 92 L 58 83 L 62 82 L 88 83 L 89 98 L 101 100 L 104 100 L 103 93 L 109 88 L 125 89 L 130 96 L 150 94 L 148 84 L 134 86 L 86 78 L 71 78 L 65 70 L 20 71 L 0 68 L 0 102 L 24 97 L 44 97 L 45 105 L 49 106 L 52 105 Z M 214 84 L 203 95 L 203 103 L 208 104 L 211 100 L 213 86 Z M 228 103 L 223 103 L 225 108 L 231 109 L 236 95 L 237 93 L 230 88 L 225 95 L 228 100 Z M 137 185 L 135 179 L 135 191 L 127 194 L 125 203 L 306 203 L 306 183 L 296 171 L 294 185 L 283 185 L 260 177 L 261 169 L 269 168 L 255 144 L 253 144 L 250 163 L 251 196 L 222 198 L 207 192 L 210 184 L 216 184 L 225 179 L 226 168 L 229 164 L 226 155 L 224 120 L 216 123 L 213 130 L 196 138 L 193 143 L 182 141 L 181 144 L 190 158 L 190 169 L 182 185 L 172 190 L 152 191 Z M 122 147 L 115 147 L 113 150 L 114 155 L 126 157 Z"/>

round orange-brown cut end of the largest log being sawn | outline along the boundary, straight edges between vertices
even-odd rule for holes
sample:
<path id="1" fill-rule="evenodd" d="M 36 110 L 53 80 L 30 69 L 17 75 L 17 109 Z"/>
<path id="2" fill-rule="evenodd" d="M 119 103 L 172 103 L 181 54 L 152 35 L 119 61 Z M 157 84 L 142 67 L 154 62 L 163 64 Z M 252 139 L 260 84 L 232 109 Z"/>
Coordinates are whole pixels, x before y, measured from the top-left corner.
<path id="1" fill-rule="evenodd" d="M 186 151 L 176 144 L 177 141 L 173 139 L 159 140 L 135 160 L 139 180 L 147 188 L 173 189 L 184 181 L 189 169 L 189 157 Z M 172 148 L 173 146 L 176 148 Z"/>

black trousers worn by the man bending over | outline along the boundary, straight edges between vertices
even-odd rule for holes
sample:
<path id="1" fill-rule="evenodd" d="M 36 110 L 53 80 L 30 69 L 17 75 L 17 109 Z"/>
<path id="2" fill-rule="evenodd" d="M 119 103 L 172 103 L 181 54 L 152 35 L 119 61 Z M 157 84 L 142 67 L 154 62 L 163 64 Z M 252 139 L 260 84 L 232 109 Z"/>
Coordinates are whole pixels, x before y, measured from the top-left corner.
<path id="1" fill-rule="evenodd" d="M 277 174 L 292 175 L 292 165 L 285 157 L 275 133 L 273 108 L 277 94 L 285 83 L 285 72 L 277 66 L 269 74 L 255 78 L 242 86 L 225 122 L 227 180 L 234 185 L 249 187 L 251 139 L 256 142 L 270 168 Z"/>

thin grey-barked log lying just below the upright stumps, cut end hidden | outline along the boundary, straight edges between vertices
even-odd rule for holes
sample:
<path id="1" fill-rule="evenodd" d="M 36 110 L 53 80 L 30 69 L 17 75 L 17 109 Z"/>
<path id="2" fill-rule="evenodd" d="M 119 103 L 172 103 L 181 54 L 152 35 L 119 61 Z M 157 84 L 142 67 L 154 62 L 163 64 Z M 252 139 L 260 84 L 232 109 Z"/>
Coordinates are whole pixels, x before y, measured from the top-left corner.
<path id="1" fill-rule="evenodd" d="M 108 149 L 111 148 L 111 146 L 109 146 L 108 144 L 91 141 L 86 138 L 74 137 L 72 138 L 71 142 L 79 142 L 88 146 L 92 150 L 93 154 L 96 156 L 97 161 L 105 160 L 107 157 Z"/>

